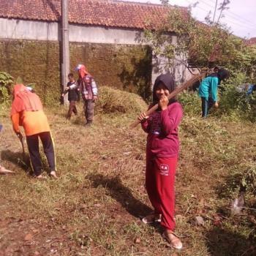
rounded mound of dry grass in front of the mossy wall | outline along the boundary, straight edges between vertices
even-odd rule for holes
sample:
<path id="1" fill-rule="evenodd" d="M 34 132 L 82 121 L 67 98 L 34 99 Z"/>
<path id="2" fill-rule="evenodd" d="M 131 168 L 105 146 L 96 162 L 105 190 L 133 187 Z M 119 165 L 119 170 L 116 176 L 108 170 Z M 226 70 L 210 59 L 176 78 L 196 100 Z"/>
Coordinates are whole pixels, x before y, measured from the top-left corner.
<path id="1" fill-rule="evenodd" d="M 96 111 L 101 113 L 141 113 L 147 109 L 146 102 L 127 91 L 102 86 L 99 89 L 99 101 Z"/>

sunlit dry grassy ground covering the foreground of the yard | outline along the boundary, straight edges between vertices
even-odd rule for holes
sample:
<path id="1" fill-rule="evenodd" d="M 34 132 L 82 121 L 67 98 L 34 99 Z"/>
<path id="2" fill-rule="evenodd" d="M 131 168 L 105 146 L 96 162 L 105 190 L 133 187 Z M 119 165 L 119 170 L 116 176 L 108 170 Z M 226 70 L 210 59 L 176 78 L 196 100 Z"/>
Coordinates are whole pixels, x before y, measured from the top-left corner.
<path id="1" fill-rule="evenodd" d="M 59 176 L 45 181 L 29 174 L 28 155 L 23 159 L 1 110 L 1 165 L 15 175 L 0 176 L 0 255 L 256 255 L 252 190 L 241 215 L 230 215 L 242 176 L 255 168 L 254 124 L 184 116 L 176 175 L 176 233 L 184 249 L 178 252 L 158 225 L 140 222 L 151 205 L 144 189 L 146 135 L 128 128 L 135 116 L 98 114 L 85 128 L 79 110 L 67 121 L 64 107 L 45 109 Z M 203 226 L 195 225 L 197 216 Z"/>

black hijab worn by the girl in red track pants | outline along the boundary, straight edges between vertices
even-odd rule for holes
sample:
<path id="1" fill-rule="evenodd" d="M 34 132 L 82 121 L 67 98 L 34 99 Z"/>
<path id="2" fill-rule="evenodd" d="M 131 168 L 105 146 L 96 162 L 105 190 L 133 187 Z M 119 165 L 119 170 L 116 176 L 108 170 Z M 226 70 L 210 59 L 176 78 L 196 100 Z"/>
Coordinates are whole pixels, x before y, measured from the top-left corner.
<path id="1" fill-rule="evenodd" d="M 155 80 L 154 86 L 153 86 L 153 103 L 154 104 L 157 104 L 159 102 L 159 99 L 157 98 L 156 90 L 157 90 L 157 86 L 161 82 L 166 86 L 166 88 L 170 92 L 174 91 L 174 89 L 176 88 L 173 75 L 170 75 L 170 74 L 159 75 Z M 176 102 L 175 98 L 172 98 L 169 100 L 169 104 L 173 102 Z"/>

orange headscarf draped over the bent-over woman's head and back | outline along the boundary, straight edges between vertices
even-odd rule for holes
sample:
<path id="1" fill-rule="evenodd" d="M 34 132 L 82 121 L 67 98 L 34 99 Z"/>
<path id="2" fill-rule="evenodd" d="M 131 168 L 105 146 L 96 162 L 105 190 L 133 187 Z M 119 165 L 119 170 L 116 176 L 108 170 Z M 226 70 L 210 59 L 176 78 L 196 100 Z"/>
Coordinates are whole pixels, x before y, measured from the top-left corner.
<path id="1" fill-rule="evenodd" d="M 22 111 L 42 110 L 42 103 L 37 94 L 26 89 L 23 84 L 14 86 L 13 97 L 11 116 Z"/>

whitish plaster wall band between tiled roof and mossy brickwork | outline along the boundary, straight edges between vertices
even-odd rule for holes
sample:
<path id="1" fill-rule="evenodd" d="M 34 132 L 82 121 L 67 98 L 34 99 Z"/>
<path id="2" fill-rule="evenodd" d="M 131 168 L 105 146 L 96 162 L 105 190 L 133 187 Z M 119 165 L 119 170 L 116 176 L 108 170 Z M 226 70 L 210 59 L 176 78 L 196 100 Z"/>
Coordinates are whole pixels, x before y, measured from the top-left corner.
<path id="1" fill-rule="evenodd" d="M 57 22 L 0 18 L 0 38 L 60 41 Z M 70 42 L 140 45 L 143 33 L 136 29 L 69 24 Z"/>

